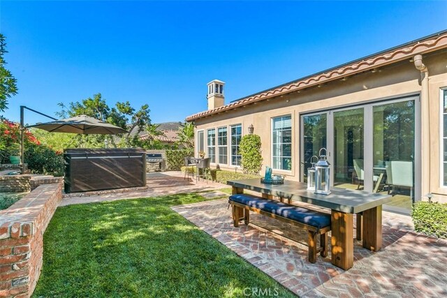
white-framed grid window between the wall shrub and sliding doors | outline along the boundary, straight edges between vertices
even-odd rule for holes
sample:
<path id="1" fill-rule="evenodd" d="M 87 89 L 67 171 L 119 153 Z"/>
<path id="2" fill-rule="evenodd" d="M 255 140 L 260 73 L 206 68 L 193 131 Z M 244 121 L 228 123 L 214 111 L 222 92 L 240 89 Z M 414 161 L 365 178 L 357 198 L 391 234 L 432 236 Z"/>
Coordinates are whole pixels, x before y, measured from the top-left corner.
<path id="1" fill-rule="evenodd" d="M 272 168 L 292 170 L 292 117 L 272 119 Z"/>

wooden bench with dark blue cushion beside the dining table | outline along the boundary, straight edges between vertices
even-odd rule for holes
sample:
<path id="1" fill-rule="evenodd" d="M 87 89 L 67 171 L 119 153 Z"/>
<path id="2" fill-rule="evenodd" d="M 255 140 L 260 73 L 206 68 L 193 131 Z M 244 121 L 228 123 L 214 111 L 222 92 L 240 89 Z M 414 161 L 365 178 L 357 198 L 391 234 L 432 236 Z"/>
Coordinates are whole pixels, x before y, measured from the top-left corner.
<path id="1" fill-rule="evenodd" d="M 266 200 L 246 193 L 231 195 L 228 199 L 228 204 L 231 205 L 235 227 L 239 226 L 241 220 L 244 220 L 244 223 L 248 225 L 250 221 L 249 211 L 254 211 L 258 214 L 305 228 L 308 235 L 309 262 L 316 262 L 316 254 L 318 252 L 323 258 L 328 255 L 330 214 L 293 206 L 284 202 Z M 316 247 L 318 234 L 320 235 L 320 248 Z"/>

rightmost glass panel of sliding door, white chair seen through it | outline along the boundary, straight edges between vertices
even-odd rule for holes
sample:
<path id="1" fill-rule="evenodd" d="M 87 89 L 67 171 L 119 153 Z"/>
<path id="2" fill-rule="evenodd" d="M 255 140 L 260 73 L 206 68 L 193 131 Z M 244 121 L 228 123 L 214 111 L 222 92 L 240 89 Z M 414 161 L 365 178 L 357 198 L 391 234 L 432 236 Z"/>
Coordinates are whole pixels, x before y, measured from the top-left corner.
<path id="1" fill-rule="evenodd" d="M 373 107 L 374 191 L 393 195 L 388 205 L 404 209 L 414 202 L 414 110 L 414 100 Z"/>

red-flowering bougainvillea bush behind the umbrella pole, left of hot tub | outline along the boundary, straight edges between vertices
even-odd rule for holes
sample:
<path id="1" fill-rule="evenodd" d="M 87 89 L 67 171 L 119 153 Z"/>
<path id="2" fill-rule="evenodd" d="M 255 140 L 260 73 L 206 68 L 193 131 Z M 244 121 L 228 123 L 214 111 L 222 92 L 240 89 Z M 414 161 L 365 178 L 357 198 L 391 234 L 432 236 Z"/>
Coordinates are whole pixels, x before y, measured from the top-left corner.
<path id="1" fill-rule="evenodd" d="M 20 125 L 1 119 L 0 136 L 0 163 L 9 163 L 9 156 L 20 155 Z M 55 176 L 64 173 L 62 152 L 41 144 L 28 130 L 24 131 L 24 149 L 24 160 L 31 172 Z"/>

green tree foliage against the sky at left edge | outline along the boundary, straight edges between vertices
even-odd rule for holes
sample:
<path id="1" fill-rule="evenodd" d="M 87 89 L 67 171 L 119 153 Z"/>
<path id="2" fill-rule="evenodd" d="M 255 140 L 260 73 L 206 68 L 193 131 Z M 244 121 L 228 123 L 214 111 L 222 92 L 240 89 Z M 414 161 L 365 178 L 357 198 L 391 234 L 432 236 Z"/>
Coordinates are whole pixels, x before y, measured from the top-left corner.
<path id="1" fill-rule="evenodd" d="M 8 98 L 17 94 L 17 80 L 13 74 L 5 68 L 6 61 L 3 55 L 6 50 L 6 38 L 0 33 L 0 112 L 4 112 L 8 106 Z"/>

